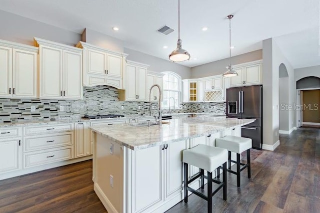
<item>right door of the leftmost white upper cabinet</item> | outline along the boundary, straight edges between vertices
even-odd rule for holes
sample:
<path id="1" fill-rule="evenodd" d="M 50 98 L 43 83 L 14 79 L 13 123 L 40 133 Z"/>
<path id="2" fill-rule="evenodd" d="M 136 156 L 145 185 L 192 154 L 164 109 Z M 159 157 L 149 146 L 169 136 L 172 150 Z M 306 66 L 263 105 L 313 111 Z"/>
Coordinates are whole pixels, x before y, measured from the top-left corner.
<path id="1" fill-rule="evenodd" d="M 13 49 L 12 94 L 13 97 L 36 98 L 37 53 Z"/>

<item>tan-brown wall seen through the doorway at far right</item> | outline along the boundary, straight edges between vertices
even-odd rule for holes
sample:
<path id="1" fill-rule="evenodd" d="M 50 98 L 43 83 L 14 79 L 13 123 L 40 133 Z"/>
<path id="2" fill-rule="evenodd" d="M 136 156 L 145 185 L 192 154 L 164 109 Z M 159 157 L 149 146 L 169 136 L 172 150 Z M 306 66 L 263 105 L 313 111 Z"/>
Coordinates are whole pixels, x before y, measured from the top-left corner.
<path id="1" fill-rule="evenodd" d="M 302 91 L 303 122 L 320 123 L 320 90 Z"/>

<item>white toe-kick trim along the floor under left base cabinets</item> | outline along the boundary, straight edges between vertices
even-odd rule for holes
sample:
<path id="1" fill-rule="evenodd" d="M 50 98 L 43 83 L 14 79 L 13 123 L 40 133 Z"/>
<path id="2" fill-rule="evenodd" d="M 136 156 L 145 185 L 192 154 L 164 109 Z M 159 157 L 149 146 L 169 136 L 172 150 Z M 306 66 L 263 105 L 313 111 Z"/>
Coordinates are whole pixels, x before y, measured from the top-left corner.
<path id="1" fill-rule="evenodd" d="M 92 159 L 92 155 L 85 156 L 82 158 L 75 158 L 75 159 L 71 159 L 71 160 L 67 160 L 67 161 L 55 162 L 52 164 L 46 164 L 46 165 L 42 165 L 42 166 L 38 166 L 38 167 L 22 169 L 22 170 L 18 170 L 18 171 L 14 171 L 14 172 L 8 172 L 8 173 L 1 174 L 0 180 L 4 180 L 7 178 L 13 178 L 13 177 L 21 176 L 21 175 L 26 175 L 26 174 L 30 174 L 30 173 L 34 173 L 34 172 L 39 172 L 42 170 L 52 169 L 55 167 L 61 167 L 61 166 L 65 166 L 68 164 L 74 164 L 74 163 L 78 163 L 78 162 L 86 161 L 86 160 L 90 160 L 90 159 Z"/>

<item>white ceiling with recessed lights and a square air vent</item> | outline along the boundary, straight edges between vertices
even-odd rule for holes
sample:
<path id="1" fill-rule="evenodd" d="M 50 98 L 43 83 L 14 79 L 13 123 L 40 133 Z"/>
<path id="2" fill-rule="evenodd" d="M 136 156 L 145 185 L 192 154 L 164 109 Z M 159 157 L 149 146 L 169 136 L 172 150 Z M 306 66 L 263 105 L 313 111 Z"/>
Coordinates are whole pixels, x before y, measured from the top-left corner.
<path id="1" fill-rule="evenodd" d="M 0 9 L 77 33 L 87 27 L 163 59 L 176 47 L 177 0 L 1 0 Z M 232 55 L 261 49 L 263 39 L 274 37 L 294 68 L 320 65 L 319 0 L 180 0 L 180 38 L 191 55 L 181 64 L 228 57 L 230 13 Z M 163 25 L 175 31 L 158 33 Z"/>

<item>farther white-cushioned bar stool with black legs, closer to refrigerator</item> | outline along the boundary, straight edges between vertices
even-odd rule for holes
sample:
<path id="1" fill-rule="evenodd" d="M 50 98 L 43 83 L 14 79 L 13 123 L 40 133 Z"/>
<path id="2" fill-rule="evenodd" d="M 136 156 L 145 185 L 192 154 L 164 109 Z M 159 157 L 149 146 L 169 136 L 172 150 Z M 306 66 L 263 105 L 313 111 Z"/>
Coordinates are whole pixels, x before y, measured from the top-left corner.
<path id="1" fill-rule="evenodd" d="M 215 139 L 215 146 L 228 150 L 228 169 L 227 171 L 236 175 L 236 185 L 240 187 L 240 172 L 248 168 L 248 178 L 251 178 L 250 167 L 250 148 L 252 148 L 252 140 L 250 138 L 242 138 L 237 136 L 225 136 Z M 240 154 L 246 150 L 247 163 L 240 163 Z M 231 160 L 231 152 L 236 153 L 236 161 Z M 236 164 L 236 172 L 231 170 L 231 162 Z M 242 168 L 240 168 L 242 166 Z M 219 178 L 219 168 L 217 169 L 217 178 Z"/>

